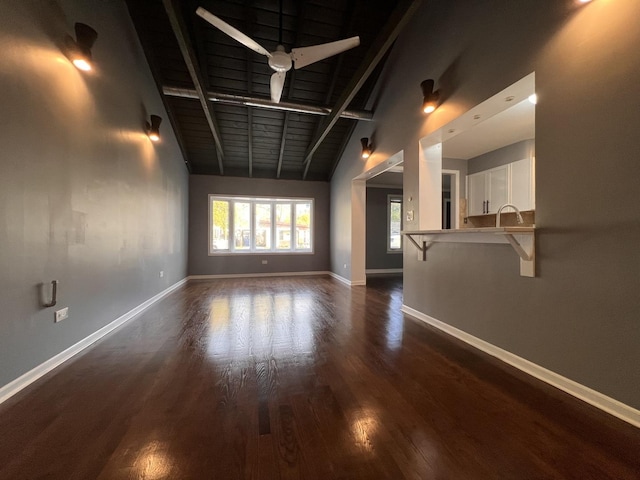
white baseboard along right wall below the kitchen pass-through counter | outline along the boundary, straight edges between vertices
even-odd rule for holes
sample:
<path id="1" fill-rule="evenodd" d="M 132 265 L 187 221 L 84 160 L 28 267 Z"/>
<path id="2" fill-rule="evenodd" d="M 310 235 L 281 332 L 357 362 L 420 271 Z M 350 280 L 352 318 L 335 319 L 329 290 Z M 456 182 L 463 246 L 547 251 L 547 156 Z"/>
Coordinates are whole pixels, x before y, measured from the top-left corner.
<path id="1" fill-rule="evenodd" d="M 428 323 L 438 330 L 468 343 L 478 350 L 482 350 L 483 352 L 488 353 L 489 355 L 496 357 L 525 373 L 528 373 L 538 380 L 542 380 L 543 382 L 553 385 L 554 387 L 559 388 L 560 390 L 573 395 L 574 397 L 579 398 L 580 400 L 587 402 L 610 415 L 618 417 L 631 425 L 640 427 L 640 410 L 636 410 L 635 408 L 614 398 L 608 397 L 596 390 L 552 372 L 551 370 L 547 370 L 540 365 L 530 362 L 529 360 L 525 360 L 524 358 L 503 350 L 500 347 L 496 347 L 489 342 L 485 342 L 484 340 L 474 337 L 473 335 L 459 330 L 456 327 L 452 327 L 451 325 L 430 317 L 425 313 L 414 310 L 411 307 L 402 305 L 402 311 L 418 320 Z"/>

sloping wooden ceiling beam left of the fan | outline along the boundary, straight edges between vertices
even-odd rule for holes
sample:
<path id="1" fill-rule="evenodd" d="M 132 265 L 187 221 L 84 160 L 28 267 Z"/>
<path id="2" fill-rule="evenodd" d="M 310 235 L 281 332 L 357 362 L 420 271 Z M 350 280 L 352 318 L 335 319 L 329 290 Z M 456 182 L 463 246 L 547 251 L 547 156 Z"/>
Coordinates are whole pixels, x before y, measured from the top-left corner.
<path id="1" fill-rule="evenodd" d="M 169 17 L 169 23 L 171 24 L 173 33 L 176 36 L 176 40 L 178 41 L 180 52 L 182 53 L 184 62 L 187 65 L 187 70 L 189 70 L 189 75 L 191 76 L 191 80 L 193 81 L 193 85 L 195 86 L 196 92 L 198 94 L 198 99 L 200 100 L 200 104 L 202 105 L 202 110 L 205 117 L 207 118 L 209 129 L 211 130 L 211 134 L 213 135 L 213 141 L 216 144 L 216 157 L 218 159 L 218 169 L 220 170 L 220 175 L 224 175 L 224 166 L 222 163 L 224 159 L 224 149 L 222 146 L 222 138 L 220 137 L 220 131 L 216 121 L 215 112 L 213 111 L 213 107 L 207 99 L 205 88 L 206 82 L 198 66 L 198 60 L 193 45 L 191 44 L 191 40 L 189 39 L 187 27 L 184 23 L 184 19 L 182 18 L 179 7 L 175 4 L 175 0 L 163 0 L 163 4 Z"/>

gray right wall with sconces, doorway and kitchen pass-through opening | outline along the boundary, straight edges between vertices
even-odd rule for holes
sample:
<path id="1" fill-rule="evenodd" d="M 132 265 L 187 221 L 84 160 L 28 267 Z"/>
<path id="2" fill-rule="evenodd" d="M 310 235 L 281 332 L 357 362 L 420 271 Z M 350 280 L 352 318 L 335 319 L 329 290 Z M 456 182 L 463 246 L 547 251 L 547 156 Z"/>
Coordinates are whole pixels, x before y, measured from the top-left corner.
<path id="1" fill-rule="evenodd" d="M 335 228 L 350 224 L 351 179 L 403 150 L 417 212 L 419 139 L 535 71 L 537 277 L 519 276 L 508 245 L 438 244 L 427 262 L 404 255 L 404 303 L 640 408 L 640 2 L 422 5 L 383 73 L 374 125 L 356 127 L 333 177 L 333 271 L 351 253 L 350 230 Z M 444 99 L 429 117 L 425 78 Z"/>

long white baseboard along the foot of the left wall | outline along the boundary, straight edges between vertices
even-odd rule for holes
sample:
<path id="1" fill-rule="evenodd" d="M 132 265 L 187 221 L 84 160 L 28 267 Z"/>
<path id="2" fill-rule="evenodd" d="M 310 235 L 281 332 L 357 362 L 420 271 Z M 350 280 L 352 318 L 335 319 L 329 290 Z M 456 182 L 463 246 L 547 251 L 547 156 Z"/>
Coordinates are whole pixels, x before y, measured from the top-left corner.
<path id="1" fill-rule="evenodd" d="M 157 295 L 154 295 L 153 297 L 151 297 L 146 302 L 141 303 L 140 305 L 138 305 L 134 309 L 129 310 L 124 315 L 116 318 L 114 321 L 112 321 L 108 325 L 105 325 L 104 327 L 102 327 L 101 329 L 95 331 L 94 333 L 92 333 L 88 337 L 80 340 L 75 345 L 70 346 L 66 350 L 58 353 L 57 355 L 51 357 L 49 360 L 46 360 L 45 362 L 41 363 L 37 367 L 29 370 L 27 373 L 21 375 L 20 377 L 16 378 L 15 380 L 13 380 L 13 381 L 9 382 L 8 384 L 4 385 L 2 388 L 0 388 L 0 403 L 2 403 L 5 400 L 9 399 L 10 397 L 12 397 L 16 393 L 18 393 L 23 388 L 26 388 L 27 386 L 31 385 L 33 382 L 38 380 L 40 377 L 42 377 L 43 375 L 49 373 L 51 370 L 53 370 L 57 366 L 61 365 L 62 363 L 66 362 L 67 360 L 69 360 L 74 355 L 77 355 L 82 350 L 84 350 L 88 346 L 92 345 L 93 343 L 97 342 L 102 337 L 104 337 L 108 333 L 112 332 L 113 330 L 115 330 L 116 328 L 121 326 L 122 324 L 124 324 L 127 321 L 131 320 L 133 317 L 135 317 L 139 313 L 142 313 L 144 310 L 149 308 L 151 305 L 153 305 L 154 303 L 156 303 L 160 299 L 164 298 L 165 296 L 167 296 L 169 293 L 173 292 L 178 287 L 181 287 L 186 282 L 187 282 L 187 279 L 184 278 L 184 279 L 180 280 L 179 282 L 171 285 L 169 288 L 163 290 L 162 292 L 158 293 Z"/>

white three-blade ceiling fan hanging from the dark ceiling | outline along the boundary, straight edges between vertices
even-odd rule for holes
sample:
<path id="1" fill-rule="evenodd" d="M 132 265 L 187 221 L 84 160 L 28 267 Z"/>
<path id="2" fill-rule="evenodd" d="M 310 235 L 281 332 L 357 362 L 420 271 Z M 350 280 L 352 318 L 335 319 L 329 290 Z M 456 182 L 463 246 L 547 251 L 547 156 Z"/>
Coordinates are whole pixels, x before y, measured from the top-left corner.
<path id="1" fill-rule="evenodd" d="M 214 27 L 220 29 L 222 32 L 229 35 L 234 40 L 240 42 L 245 47 L 250 48 L 254 52 L 260 53 L 268 57 L 269 66 L 275 70 L 276 73 L 271 75 L 271 101 L 274 103 L 280 102 L 282 96 L 282 90 L 284 89 L 284 80 L 286 73 L 291 70 L 291 66 L 296 70 L 312 63 L 324 60 L 325 58 L 337 55 L 351 48 L 360 45 L 360 37 L 355 36 L 346 38 L 344 40 L 338 40 L 336 42 L 323 43 L 321 45 L 313 45 L 311 47 L 292 48 L 290 53 L 287 53 L 282 46 L 282 10 L 280 11 L 280 45 L 278 45 L 273 52 L 269 52 L 262 47 L 258 42 L 252 40 L 240 30 L 232 27 L 228 23 L 224 22 L 220 18 L 213 15 L 211 12 L 205 10 L 202 7 L 198 7 L 196 14 L 204 18 Z"/>

